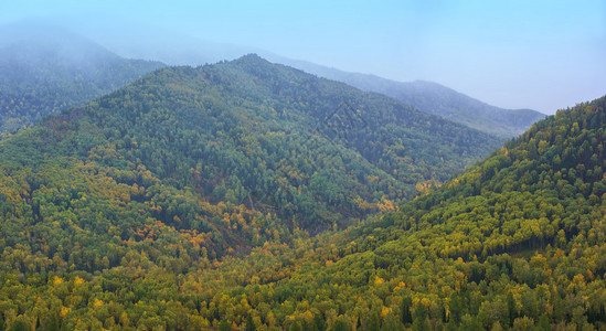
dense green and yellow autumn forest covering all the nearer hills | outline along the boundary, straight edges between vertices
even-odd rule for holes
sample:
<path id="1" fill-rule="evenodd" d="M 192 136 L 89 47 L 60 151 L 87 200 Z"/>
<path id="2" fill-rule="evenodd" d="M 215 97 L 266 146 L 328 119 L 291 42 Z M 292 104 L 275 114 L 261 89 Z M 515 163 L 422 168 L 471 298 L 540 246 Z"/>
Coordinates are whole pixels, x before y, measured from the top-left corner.
<path id="1" fill-rule="evenodd" d="M 604 104 L 476 163 L 498 139 L 256 55 L 161 68 L 0 141 L 0 327 L 604 328 Z"/>

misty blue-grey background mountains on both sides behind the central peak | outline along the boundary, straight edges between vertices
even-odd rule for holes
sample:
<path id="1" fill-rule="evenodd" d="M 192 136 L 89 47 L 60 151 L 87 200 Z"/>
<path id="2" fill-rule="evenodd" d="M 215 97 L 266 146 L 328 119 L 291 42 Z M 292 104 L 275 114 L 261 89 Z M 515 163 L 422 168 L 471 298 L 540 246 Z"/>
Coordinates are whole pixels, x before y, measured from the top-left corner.
<path id="1" fill-rule="evenodd" d="M 153 30 L 153 38 L 149 38 L 151 26 L 137 31 L 126 22 L 102 30 L 98 26 L 105 21 L 79 24 L 82 33 L 94 35 L 120 54 L 161 60 L 171 65 L 213 63 L 256 52 L 276 63 L 394 97 L 501 140 L 522 134 L 544 117 L 530 109 L 493 107 L 430 82 L 401 83 L 347 73 L 263 50 L 200 41 L 161 30 Z M 91 29 L 91 24 L 97 29 Z M 85 104 L 163 66 L 159 62 L 120 58 L 83 36 L 40 20 L 4 25 L 0 30 L 0 131 L 12 131 L 47 114 Z"/>

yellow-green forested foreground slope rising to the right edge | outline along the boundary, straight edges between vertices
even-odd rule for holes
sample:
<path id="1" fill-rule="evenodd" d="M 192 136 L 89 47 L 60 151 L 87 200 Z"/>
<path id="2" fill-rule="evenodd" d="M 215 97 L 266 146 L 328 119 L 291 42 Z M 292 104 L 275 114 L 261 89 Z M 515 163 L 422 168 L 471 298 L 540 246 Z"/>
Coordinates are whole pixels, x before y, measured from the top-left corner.
<path id="1" fill-rule="evenodd" d="M 605 134 L 602 97 L 397 212 L 198 273 L 213 287 L 202 316 L 290 330 L 603 329 Z"/>

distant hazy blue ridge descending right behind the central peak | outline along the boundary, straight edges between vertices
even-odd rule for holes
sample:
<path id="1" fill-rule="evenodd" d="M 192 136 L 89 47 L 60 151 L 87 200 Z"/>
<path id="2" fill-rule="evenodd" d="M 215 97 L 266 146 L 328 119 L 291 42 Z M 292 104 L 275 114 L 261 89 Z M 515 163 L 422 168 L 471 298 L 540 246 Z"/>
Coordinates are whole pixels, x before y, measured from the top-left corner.
<path id="1" fill-rule="evenodd" d="M 425 113 L 466 125 L 501 139 L 517 137 L 545 117 L 531 109 L 502 109 L 458 93 L 433 82 L 395 82 L 375 75 L 348 73 L 306 61 L 273 55 L 268 58 L 316 74 L 343 82 L 362 90 L 376 92 L 396 98 Z"/>

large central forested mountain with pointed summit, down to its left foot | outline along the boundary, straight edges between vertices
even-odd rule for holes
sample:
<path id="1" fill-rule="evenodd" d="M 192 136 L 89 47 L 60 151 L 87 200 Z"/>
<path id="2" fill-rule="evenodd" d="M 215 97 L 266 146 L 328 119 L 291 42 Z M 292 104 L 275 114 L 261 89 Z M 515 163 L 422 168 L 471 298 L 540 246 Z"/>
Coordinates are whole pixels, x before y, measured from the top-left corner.
<path id="1" fill-rule="evenodd" d="M 394 211 L 498 143 L 256 55 L 158 70 L 0 141 L 0 320 L 216 325 L 249 303 L 209 306 L 199 273 Z"/>

